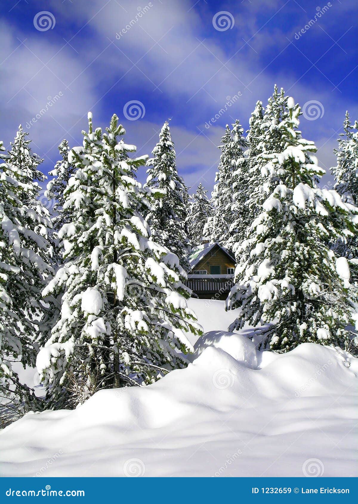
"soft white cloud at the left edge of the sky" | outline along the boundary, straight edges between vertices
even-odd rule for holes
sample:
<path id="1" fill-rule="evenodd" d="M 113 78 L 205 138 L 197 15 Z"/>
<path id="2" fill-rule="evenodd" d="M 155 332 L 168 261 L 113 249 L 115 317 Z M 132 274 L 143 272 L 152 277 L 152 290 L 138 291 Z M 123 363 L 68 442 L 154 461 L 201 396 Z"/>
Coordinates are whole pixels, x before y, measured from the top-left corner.
<path id="1" fill-rule="evenodd" d="M 32 37 L 26 38 L 6 23 L 2 23 L 0 29 L 0 109 L 3 118 L 0 138 L 7 145 L 22 123 L 37 145 L 33 144 L 35 152 L 43 156 L 50 149 L 44 166 L 51 169 L 52 161 L 56 160 L 57 143 L 65 136 L 71 142 L 74 131 L 77 138 L 80 137 L 78 133 L 83 123 L 80 121 L 75 130 L 71 128 L 83 114 L 86 116 L 87 108 L 95 102 L 90 75 L 82 74 L 67 88 L 83 69 L 76 54 L 70 52 L 73 51 L 71 48 L 67 46 L 61 50 L 62 45 L 49 44 L 45 38 L 46 44 Z M 19 38 L 15 34 L 19 34 Z"/>

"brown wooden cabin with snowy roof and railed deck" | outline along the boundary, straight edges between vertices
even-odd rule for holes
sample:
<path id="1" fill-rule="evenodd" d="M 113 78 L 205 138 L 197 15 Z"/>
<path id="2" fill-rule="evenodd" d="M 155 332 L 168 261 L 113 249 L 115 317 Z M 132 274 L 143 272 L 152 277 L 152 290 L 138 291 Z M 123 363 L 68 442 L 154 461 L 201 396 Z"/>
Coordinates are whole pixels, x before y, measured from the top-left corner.
<path id="1" fill-rule="evenodd" d="M 189 256 L 187 286 L 200 299 L 226 299 L 232 285 L 235 260 L 218 243 L 194 247 Z"/>

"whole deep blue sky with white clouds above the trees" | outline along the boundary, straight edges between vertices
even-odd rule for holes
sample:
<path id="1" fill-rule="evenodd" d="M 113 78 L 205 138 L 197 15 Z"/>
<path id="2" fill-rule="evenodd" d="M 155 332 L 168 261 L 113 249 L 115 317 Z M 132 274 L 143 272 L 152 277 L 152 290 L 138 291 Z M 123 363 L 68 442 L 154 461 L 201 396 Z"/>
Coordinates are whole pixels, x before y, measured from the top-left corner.
<path id="1" fill-rule="evenodd" d="M 277 83 L 305 108 L 303 135 L 332 166 L 345 110 L 358 117 L 356 1 L 195 2 L 6 2 L 0 139 L 8 145 L 22 123 L 47 173 L 63 138 L 81 144 L 88 110 L 103 128 L 115 112 L 139 155 L 171 118 L 179 172 L 192 191 L 200 181 L 211 191 L 225 124 L 239 118 L 246 129 Z M 140 102 L 136 120 L 128 102 Z"/>

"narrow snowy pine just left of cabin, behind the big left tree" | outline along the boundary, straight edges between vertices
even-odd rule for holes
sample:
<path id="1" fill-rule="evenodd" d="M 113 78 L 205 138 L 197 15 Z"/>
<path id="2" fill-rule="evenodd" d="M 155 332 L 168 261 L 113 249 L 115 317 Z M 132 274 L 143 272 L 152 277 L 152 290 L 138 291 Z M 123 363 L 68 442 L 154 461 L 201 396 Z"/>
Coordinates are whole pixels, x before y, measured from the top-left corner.
<path id="1" fill-rule="evenodd" d="M 168 122 L 163 124 L 152 155 L 147 161 L 146 187 L 153 196 L 146 220 L 152 230 L 153 240 L 173 252 L 188 272 L 188 189 L 176 169 L 176 155 Z"/>

